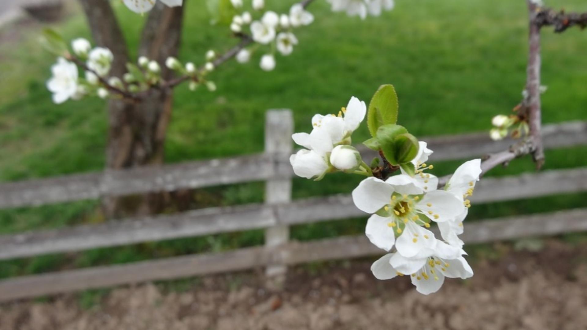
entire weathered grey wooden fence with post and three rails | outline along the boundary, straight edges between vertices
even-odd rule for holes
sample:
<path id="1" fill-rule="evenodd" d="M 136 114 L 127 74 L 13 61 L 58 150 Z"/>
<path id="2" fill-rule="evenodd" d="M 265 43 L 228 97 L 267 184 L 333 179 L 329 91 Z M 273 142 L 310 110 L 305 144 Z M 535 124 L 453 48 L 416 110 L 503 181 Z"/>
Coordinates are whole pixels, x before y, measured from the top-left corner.
<path id="1" fill-rule="evenodd" d="M 286 266 L 291 264 L 381 254 L 382 251 L 370 244 L 364 235 L 306 243 L 289 240 L 291 225 L 367 217 L 357 210 L 348 195 L 291 200 L 292 132 L 291 112 L 271 110 L 266 115 L 265 153 L 262 154 L 0 184 L 0 208 L 8 208 L 266 181 L 264 204 L 204 208 L 173 215 L 0 235 L 0 260 L 6 260 L 265 228 L 265 246 L 262 247 L 3 280 L 0 281 L 0 301 L 256 267 L 266 267 L 266 274 L 275 276 L 284 274 Z M 545 147 L 549 149 L 587 144 L 587 123 L 548 125 L 543 134 Z M 479 157 L 505 149 L 511 143 L 492 142 L 487 133 L 423 140 L 434 150 L 434 161 Z M 365 157 L 371 156 L 372 151 L 359 149 Z M 488 178 L 480 181 L 472 202 L 491 203 L 587 191 L 586 178 L 587 167 Z M 467 225 L 463 239 L 467 243 L 483 243 L 586 231 L 585 219 L 587 208 L 476 221 Z"/>

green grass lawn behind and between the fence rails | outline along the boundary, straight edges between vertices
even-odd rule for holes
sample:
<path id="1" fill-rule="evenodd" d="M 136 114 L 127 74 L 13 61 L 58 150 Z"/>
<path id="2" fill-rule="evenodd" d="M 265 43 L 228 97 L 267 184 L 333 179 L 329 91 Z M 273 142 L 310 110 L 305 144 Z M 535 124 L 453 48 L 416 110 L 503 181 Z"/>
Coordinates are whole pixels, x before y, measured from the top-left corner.
<path id="1" fill-rule="evenodd" d="M 144 17 L 116 4 L 131 55 Z M 272 1 L 285 10 L 288 2 Z M 568 11 L 587 11 L 582 0 L 549 1 Z M 416 136 L 488 130 L 490 119 L 508 113 L 521 99 L 527 61 L 527 9 L 524 1 L 400 1 L 380 18 L 360 21 L 333 14 L 317 1 L 313 25 L 299 29 L 299 45 L 288 57 L 277 56 L 273 72 L 251 63 L 228 62 L 210 76 L 215 93 L 187 86 L 176 90 L 173 119 L 166 143 L 170 163 L 234 156 L 263 149 L 264 113 L 294 110 L 297 131 L 308 131 L 314 113 L 332 113 L 350 96 L 363 100 L 382 83 L 393 83 L 400 99 L 400 123 Z M 228 29 L 210 26 L 202 6 L 187 4 L 183 47 L 179 58 L 202 63 L 204 53 L 236 42 Z M 89 37 L 85 19 L 73 15 L 53 26 L 66 39 Z M 53 105 L 45 89 L 52 56 L 36 43 L 38 31 L 18 43 L 0 45 L 0 180 L 100 170 L 104 166 L 107 117 L 97 99 Z M 587 120 L 587 33 L 579 29 L 555 35 L 542 32 L 542 81 L 546 123 Z M 355 142 L 367 137 L 363 126 Z M 546 153 L 546 169 L 584 166 L 587 148 Z M 446 174 L 458 161 L 435 164 Z M 491 175 L 531 171 L 528 159 L 515 161 Z M 328 176 L 321 183 L 294 180 L 294 197 L 349 193 L 360 177 Z M 262 183 L 214 187 L 198 191 L 203 206 L 262 201 Z M 474 206 L 471 220 L 584 206 L 585 194 Z M 0 233 L 58 228 L 103 221 L 97 203 L 86 201 L 0 211 Z M 296 226 L 300 240 L 360 233 L 365 218 Z M 48 255 L 0 263 L 0 277 L 58 268 L 122 263 L 201 251 L 220 251 L 262 243 L 262 231 L 103 248 L 79 254 Z M 93 298 L 88 298 L 92 301 Z"/>

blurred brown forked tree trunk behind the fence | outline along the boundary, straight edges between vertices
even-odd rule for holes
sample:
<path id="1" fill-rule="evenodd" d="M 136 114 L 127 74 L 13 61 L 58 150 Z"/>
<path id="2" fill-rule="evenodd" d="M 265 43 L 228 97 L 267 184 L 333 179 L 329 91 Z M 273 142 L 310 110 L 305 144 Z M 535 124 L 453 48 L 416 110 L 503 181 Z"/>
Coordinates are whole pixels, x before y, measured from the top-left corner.
<path id="1" fill-rule="evenodd" d="M 80 2 L 97 45 L 109 48 L 114 54 L 110 75 L 122 77 L 126 72 L 125 65 L 130 61 L 124 36 L 110 2 Z M 164 66 L 165 59 L 177 56 L 184 6 L 170 8 L 157 1 L 143 28 L 139 54 L 160 64 L 163 79 L 170 78 L 171 74 Z M 107 169 L 162 164 L 172 109 L 172 90 L 153 90 L 140 102 L 111 100 L 108 105 Z M 102 204 L 107 217 L 118 217 L 125 213 L 149 214 L 163 206 L 163 198 L 162 194 L 147 194 L 140 198 L 106 197 Z"/>

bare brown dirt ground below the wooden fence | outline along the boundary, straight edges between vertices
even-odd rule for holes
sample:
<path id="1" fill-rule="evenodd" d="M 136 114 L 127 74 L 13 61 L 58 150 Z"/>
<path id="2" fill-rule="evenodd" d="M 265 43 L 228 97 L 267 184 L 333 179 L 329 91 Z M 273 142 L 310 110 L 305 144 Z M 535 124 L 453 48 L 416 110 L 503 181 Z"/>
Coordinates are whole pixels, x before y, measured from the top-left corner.
<path id="1" fill-rule="evenodd" d="M 505 246 L 505 247 L 504 247 Z M 202 278 L 185 291 L 118 288 L 80 308 L 75 295 L 0 305 L 0 330 L 587 329 L 587 244 L 548 241 L 473 264 L 468 281 L 418 294 L 377 281 L 369 261 L 295 268 L 280 293 L 255 273 Z"/>

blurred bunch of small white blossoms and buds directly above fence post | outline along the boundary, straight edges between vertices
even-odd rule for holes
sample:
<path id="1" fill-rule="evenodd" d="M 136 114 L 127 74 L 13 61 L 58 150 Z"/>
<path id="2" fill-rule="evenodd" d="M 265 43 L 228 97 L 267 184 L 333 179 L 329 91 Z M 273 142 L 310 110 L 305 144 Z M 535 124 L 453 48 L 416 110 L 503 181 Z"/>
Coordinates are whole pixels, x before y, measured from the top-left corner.
<path id="1" fill-rule="evenodd" d="M 240 0 L 233 0 L 232 4 L 237 9 L 242 7 Z M 252 5 L 257 12 L 262 12 L 265 8 L 263 0 L 255 0 Z M 232 32 L 240 33 L 243 26 L 250 24 L 253 41 L 258 45 L 269 46 L 269 51 L 261 56 L 259 66 L 265 71 L 271 71 L 275 69 L 275 50 L 283 56 L 290 55 L 294 51 L 294 46 L 298 45 L 298 38 L 292 32 L 293 29 L 309 25 L 313 21 L 314 16 L 306 11 L 302 4 L 295 4 L 291 6 L 288 14 L 279 15 L 274 11 L 265 11 L 262 12 L 259 19 L 254 19 L 247 11 L 242 12 L 232 18 L 230 28 Z M 250 49 L 241 49 L 236 55 L 237 61 L 239 63 L 248 62 L 252 50 L 257 49 L 258 45 Z"/>

